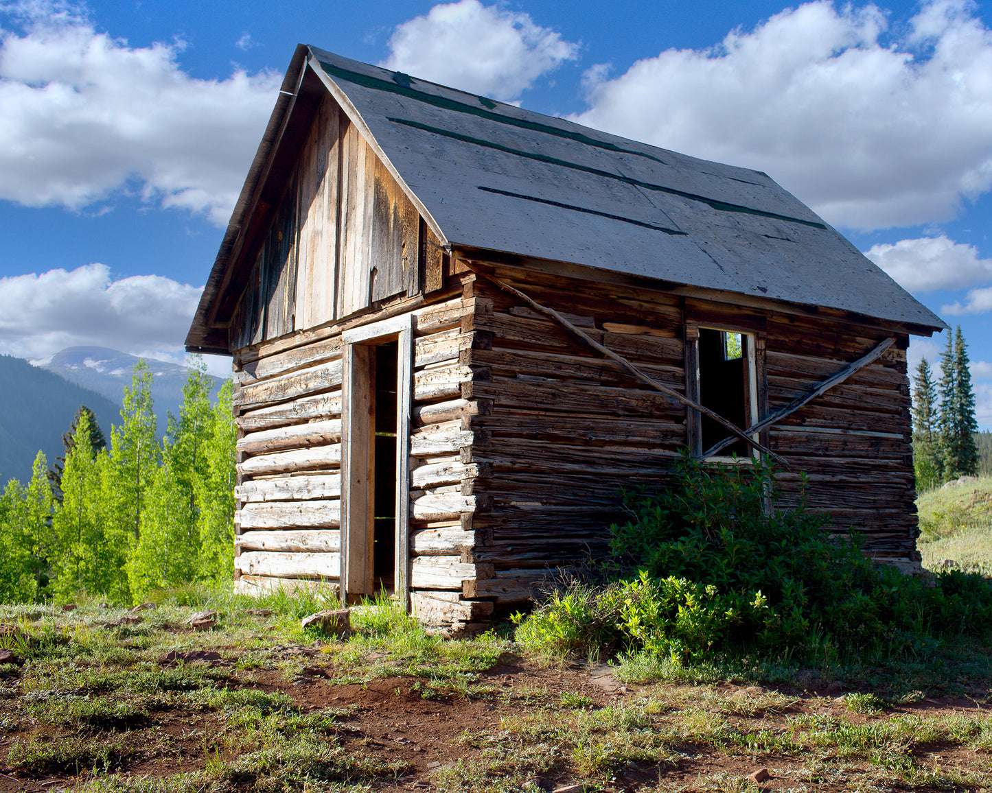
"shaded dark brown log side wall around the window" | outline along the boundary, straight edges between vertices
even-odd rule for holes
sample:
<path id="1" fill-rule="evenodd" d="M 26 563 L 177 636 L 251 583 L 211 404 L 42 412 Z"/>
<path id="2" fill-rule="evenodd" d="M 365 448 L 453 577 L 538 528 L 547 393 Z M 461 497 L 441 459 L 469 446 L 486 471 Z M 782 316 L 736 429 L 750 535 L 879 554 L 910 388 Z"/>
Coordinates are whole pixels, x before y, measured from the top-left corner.
<path id="1" fill-rule="evenodd" d="M 760 401 L 769 409 L 892 335 L 841 318 L 809 319 L 476 265 L 681 392 L 686 321 L 755 332 Z M 478 579 L 470 592 L 511 603 L 528 598 L 549 569 L 605 550 L 605 527 L 622 517 L 622 487 L 668 482 L 668 469 L 687 442 L 686 411 L 484 278 L 472 282 L 472 294 L 475 338 L 462 363 L 473 378 L 461 397 L 485 409 L 467 422 L 474 437 L 461 460 L 472 466 L 473 492 L 485 495 L 473 520 L 485 528 L 485 542 L 476 544 L 472 558 L 492 565 L 493 575 Z M 767 442 L 793 466 L 779 475 L 784 504 L 796 502 L 799 474 L 806 472 L 807 503 L 830 513 L 831 528 L 853 526 L 872 556 L 912 569 L 919 557 L 907 339 L 899 341 L 774 426 Z"/>

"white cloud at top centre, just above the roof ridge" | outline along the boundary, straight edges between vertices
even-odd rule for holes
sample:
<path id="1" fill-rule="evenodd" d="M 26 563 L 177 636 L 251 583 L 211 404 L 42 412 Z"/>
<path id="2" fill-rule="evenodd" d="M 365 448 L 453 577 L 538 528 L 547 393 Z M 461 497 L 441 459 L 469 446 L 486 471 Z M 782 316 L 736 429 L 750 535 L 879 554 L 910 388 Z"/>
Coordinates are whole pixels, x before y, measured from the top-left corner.
<path id="1" fill-rule="evenodd" d="M 397 26 L 389 48 L 386 68 L 507 101 L 576 57 L 579 45 L 528 14 L 459 0 Z"/>

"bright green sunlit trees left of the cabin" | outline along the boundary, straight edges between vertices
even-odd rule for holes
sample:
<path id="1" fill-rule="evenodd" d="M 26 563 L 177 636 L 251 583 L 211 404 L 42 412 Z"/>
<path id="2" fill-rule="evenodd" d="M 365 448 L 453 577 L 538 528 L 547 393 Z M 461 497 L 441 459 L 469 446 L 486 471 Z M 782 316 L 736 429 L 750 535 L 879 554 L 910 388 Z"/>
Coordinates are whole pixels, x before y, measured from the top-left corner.
<path id="1" fill-rule="evenodd" d="M 92 412 L 76 411 L 57 492 L 40 455 L 29 486 L 12 480 L 0 495 L 0 602 L 89 594 L 125 604 L 230 579 L 236 433 L 230 385 L 211 406 L 210 382 L 202 362 L 190 367 L 180 417 L 170 416 L 161 443 L 143 361 L 109 447 Z"/>

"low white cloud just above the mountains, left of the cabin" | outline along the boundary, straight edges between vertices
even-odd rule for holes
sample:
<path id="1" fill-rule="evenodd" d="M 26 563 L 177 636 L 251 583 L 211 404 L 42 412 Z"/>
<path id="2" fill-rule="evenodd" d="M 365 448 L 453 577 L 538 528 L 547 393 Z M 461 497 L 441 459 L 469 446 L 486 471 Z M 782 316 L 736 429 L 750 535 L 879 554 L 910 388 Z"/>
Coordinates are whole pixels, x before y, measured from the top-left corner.
<path id="1" fill-rule="evenodd" d="M 162 276 L 113 281 L 101 264 L 2 278 L 0 353 L 44 358 L 96 346 L 182 361 L 202 290 Z"/>

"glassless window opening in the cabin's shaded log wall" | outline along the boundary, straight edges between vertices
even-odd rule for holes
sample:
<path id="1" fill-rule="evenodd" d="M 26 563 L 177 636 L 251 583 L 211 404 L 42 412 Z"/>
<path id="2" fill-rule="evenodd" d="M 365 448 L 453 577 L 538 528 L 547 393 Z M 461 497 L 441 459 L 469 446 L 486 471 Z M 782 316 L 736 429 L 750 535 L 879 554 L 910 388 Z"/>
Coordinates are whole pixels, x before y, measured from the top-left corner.
<path id="1" fill-rule="evenodd" d="M 742 331 L 699 328 L 696 341 L 696 383 L 698 401 L 735 426 L 747 429 L 758 421 L 758 380 L 755 372 L 754 334 Z M 695 453 L 710 448 L 730 434 L 714 419 L 689 411 L 696 422 L 692 437 Z M 756 438 L 757 439 L 757 438 Z M 752 454 L 742 440 L 726 446 L 716 457 Z"/>

